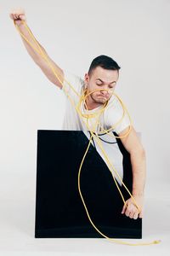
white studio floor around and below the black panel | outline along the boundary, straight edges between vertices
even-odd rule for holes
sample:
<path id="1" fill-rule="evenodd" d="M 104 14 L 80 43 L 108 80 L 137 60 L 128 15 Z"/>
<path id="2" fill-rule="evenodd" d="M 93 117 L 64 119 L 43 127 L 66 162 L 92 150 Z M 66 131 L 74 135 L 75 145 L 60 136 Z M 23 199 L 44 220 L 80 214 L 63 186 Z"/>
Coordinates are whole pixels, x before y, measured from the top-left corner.
<path id="1" fill-rule="evenodd" d="M 26 172 L 27 173 L 27 172 Z M 0 256 L 1 255 L 167 255 L 170 250 L 169 185 L 157 183 L 146 189 L 143 240 L 161 243 L 130 247 L 104 239 L 34 238 L 36 172 L 25 175 L 1 173 Z M 127 240 L 124 240 L 127 241 Z"/>

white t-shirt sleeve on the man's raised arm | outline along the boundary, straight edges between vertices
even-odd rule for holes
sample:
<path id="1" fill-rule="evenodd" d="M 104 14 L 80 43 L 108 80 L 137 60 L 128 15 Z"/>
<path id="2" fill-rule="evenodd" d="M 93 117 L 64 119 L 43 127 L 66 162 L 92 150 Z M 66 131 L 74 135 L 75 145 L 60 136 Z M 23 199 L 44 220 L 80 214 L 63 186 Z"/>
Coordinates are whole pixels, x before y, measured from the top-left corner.
<path id="1" fill-rule="evenodd" d="M 61 90 L 64 92 L 65 96 L 80 96 L 83 80 L 81 77 L 67 70 L 64 70 L 64 81 Z"/>

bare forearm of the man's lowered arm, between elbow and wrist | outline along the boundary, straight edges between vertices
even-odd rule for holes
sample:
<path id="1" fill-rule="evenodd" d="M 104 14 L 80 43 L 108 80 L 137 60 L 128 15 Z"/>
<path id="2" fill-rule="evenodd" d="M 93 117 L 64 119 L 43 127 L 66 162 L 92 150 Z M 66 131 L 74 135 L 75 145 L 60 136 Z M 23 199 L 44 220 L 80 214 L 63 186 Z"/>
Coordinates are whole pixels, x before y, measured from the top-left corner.
<path id="1" fill-rule="evenodd" d="M 130 154 L 133 169 L 133 196 L 144 196 L 146 161 L 144 151 Z"/>

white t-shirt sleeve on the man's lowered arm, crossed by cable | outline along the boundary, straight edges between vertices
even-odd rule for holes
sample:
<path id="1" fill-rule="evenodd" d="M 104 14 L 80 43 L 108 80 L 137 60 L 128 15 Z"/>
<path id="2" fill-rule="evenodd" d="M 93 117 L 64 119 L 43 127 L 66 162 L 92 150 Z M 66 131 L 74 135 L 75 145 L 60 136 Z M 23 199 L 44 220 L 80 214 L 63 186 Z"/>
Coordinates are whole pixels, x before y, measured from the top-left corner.
<path id="1" fill-rule="evenodd" d="M 123 115 L 122 105 L 118 101 L 118 99 L 115 98 L 114 101 L 111 103 L 111 106 L 108 108 L 106 115 L 105 115 L 106 128 L 110 129 L 111 126 L 116 125 L 116 123 L 120 119 L 122 119 L 122 121 L 118 125 L 116 125 L 115 128 L 113 128 L 113 131 L 116 131 L 116 134 L 118 135 L 124 129 L 126 129 L 131 124 L 130 119 L 127 115 L 126 110 L 125 110 L 123 118 L 122 118 L 122 115 Z"/>

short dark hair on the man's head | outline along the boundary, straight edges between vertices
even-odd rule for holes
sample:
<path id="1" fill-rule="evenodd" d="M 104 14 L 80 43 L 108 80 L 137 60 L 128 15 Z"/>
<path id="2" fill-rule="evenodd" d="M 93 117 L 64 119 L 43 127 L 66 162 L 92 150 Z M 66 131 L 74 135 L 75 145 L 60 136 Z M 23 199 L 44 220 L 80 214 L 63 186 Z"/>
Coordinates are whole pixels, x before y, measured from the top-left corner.
<path id="1" fill-rule="evenodd" d="M 117 70 L 117 71 L 119 71 L 119 69 L 121 68 L 116 63 L 116 61 L 114 61 L 111 57 L 106 55 L 99 55 L 98 57 L 94 58 L 94 60 L 92 61 L 88 69 L 88 75 L 90 75 L 94 70 L 94 68 L 96 67 L 103 67 L 105 69 L 111 69 L 111 70 Z"/>

